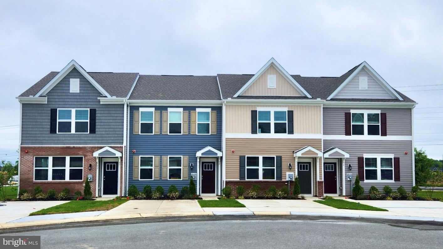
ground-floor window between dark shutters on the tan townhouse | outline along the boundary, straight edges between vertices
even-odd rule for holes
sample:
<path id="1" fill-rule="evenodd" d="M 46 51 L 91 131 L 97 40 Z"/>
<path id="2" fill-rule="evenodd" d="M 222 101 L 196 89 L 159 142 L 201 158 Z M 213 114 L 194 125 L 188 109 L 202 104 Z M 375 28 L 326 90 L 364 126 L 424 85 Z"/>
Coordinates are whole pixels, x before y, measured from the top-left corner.
<path id="1" fill-rule="evenodd" d="M 246 156 L 246 180 L 275 180 L 275 156 Z"/>

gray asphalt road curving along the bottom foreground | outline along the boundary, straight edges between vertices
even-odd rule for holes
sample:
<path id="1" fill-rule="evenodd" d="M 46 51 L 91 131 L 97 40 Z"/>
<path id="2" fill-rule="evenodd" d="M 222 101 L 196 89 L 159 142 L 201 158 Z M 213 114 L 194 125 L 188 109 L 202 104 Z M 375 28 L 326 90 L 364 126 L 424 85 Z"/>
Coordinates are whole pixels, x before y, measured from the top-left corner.
<path id="1" fill-rule="evenodd" d="M 222 220 L 220 220 L 222 219 Z M 224 219 L 224 220 L 223 220 Z M 178 222 L 171 222 L 177 220 Z M 321 218 L 169 218 L 50 227 L 42 248 L 441 248 L 443 226 Z M 119 223 L 122 223 L 119 225 Z M 54 229 L 57 228 L 57 229 Z M 36 228 L 34 228 L 36 229 Z M 37 228 L 38 229 L 38 228 Z M 47 227 L 44 229 L 48 229 Z"/>

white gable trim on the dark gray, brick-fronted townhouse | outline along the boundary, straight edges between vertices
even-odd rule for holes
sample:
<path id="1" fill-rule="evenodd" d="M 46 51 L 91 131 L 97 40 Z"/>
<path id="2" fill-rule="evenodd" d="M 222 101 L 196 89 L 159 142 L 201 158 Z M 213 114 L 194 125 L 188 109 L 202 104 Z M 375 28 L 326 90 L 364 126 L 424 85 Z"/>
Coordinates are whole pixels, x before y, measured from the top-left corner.
<path id="1" fill-rule="evenodd" d="M 68 63 L 68 65 L 66 65 L 60 72 L 58 72 L 58 74 L 52 78 L 51 81 L 49 81 L 39 92 L 37 92 L 37 94 L 35 94 L 35 97 L 40 97 L 42 95 L 46 95 L 47 92 L 51 91 L 51 89 L 58 83 L 60 82 L 60 80 L 62 80 L 73 68 L 76 68 L 78 70 L 78 72 L 80 72 L 83 77 L 86 78 L 86 80 L 88 80 L 95 88 L 97 88 L 97 90 L 103 94 L 104 96 L 110 98 L 111 96 L 109 95 L 108 92 L 105 91 L 105 89 L 103 89 L 101 87 L 100 84 L 97 83 L 97 81 L 95 81 L 93 79 L 93 77 L 91 77 L 89 75 L 89 73 L 87 73 L 85 71 L 85 69 L 82 68 L 82 66 L 78 65 L 78 63 L 74 60 L 70 61 Z"/>

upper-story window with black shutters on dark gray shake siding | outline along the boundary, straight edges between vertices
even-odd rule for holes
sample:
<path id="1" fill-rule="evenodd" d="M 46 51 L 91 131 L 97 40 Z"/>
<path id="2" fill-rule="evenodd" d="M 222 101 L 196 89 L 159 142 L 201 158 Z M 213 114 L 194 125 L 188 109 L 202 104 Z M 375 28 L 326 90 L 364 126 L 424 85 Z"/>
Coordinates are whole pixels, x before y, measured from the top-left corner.
<path id="1" fill-rule="evenodd" d="M 57 133 L 88 133 L 89 109 L 57 109 Z"/>

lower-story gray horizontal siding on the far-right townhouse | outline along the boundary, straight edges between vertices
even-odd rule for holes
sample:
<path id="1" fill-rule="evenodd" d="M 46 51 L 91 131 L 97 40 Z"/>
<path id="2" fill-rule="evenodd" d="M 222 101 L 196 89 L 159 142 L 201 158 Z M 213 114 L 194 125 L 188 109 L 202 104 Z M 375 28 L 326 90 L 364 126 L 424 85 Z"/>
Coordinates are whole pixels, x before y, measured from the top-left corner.
<path id="1" fill-rule="evenodd" d="M 400 157 L 400 181 L 395 183 L 365 183 L 360 181 L 361 186 L 368 192 L 371 186 L 375 186 L 382 192 L 385 185 L 391 186 L 395 191 L 400 185 L 403 185 L 407 191 L 412 188 L 412 141 L 361 141 L 361 140 L 324 140 L 323 149 L 338 147 L 350 154 L 345 161 L 345 173 L 353 173 L 353 182 L 358 173 L 358 157 L 363 154 L 394 154 L 394 157 Z M 407 151 L 408 155 L 404 152 Z M 352 170 L 348 165 L 352 165 Z M 342 184 L 340 184 L 340 187 Z M 350 195 L 349 182 L 346 182 L 346 195 Z"/>

